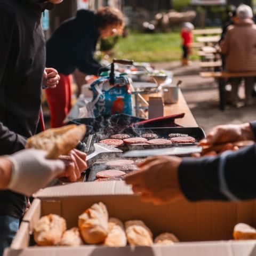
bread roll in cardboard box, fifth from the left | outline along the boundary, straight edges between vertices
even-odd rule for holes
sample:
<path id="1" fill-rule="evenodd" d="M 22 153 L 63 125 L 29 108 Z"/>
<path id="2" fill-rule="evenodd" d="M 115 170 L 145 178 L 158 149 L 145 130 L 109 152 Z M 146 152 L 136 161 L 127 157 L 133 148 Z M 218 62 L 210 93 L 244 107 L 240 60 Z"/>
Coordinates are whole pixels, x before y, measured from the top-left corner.
<path id="1" fill-rule="evenodd" d="M 153 244 L 153 235 L 141 220 L 126 221 L 125 233 L 130 245 L 148 246 Z"/>

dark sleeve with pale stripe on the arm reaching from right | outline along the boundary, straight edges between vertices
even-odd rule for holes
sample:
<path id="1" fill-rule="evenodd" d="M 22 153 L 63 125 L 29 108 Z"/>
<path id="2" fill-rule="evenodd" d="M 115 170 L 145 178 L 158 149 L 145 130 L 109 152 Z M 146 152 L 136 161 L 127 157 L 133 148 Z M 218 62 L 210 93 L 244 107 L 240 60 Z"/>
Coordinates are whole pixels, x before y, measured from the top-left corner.
<path id="1" fill-rule="evenodd" d="M 225 153 L 224 153 L 225 154 Z M 223 163 L 223 173 L 220 171 Z M 217 157 L 183 159 L 179 182 L 190 201 L 232 200 L 256 197 L 256 144 Z M 225 181 L 226 187 L 221 181 Z"/>

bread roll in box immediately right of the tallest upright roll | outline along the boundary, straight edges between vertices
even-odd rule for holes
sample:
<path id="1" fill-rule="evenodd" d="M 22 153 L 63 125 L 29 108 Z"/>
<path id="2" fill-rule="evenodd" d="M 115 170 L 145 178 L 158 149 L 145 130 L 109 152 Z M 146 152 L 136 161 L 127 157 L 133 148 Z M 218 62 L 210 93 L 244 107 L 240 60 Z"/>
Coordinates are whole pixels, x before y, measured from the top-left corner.
<path id="1" fill-rule="evenodd" d="M 119 247 L 125 246 L 126 244 L 127 239 L 123 223 L 116 218 L 110 218 L 108 221 L 108 236 L 103 245 Z"/>

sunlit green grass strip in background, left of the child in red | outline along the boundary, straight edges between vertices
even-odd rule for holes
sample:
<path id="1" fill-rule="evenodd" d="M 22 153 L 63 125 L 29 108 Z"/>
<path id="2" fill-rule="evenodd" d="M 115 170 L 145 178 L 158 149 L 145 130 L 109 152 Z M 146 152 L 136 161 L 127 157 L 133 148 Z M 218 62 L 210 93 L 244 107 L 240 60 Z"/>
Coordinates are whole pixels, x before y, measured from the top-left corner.
<path id="1" fill-rule="evenodd" d="M 180 33 L 142 34 L 132 32 L 128 37 L 118 41 L 114 54 L 117 59 L 134 61 L 179 60 L 182 54 Z M 197 57 L 193 55 L 190 59 L 195 58 Z"/>

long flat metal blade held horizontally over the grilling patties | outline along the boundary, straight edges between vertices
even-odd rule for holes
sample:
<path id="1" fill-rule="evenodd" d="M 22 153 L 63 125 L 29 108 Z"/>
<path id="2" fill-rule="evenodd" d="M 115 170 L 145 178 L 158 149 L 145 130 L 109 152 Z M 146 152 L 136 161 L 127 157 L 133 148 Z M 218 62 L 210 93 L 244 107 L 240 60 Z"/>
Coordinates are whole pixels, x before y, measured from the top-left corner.
<path id="1" fill-rule="evenodd" d="M 146 150 L 131 150 L 124 153 L 124 157 L 147 157 L 147 156 L 170 156 L 170 155 L 189 155 L 192 153 L 201 153 L 202 147 L 184 146 L 173 148 L 159 148 Z"/>

